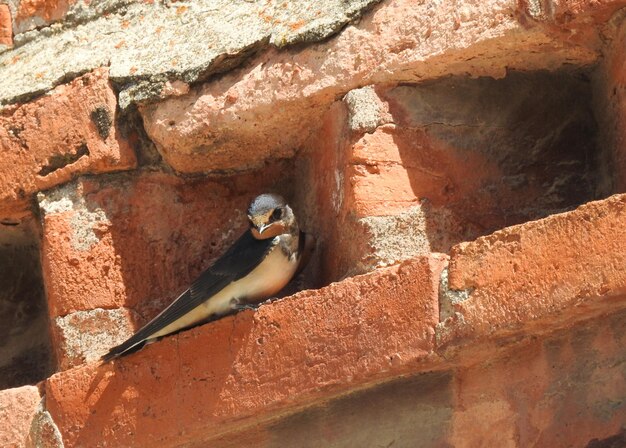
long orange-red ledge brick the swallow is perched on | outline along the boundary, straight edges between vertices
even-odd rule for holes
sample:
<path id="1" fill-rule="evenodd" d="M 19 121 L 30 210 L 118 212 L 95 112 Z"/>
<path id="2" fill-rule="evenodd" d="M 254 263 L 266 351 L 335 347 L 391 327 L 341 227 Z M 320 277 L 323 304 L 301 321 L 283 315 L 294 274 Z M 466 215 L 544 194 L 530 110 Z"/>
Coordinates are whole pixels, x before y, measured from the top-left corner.
<path id="1" fill-rule="evenodd" d="M 52 376 L 66 445 L 179 446 L 429 364 L 445 259 L 418 258 Z"/>

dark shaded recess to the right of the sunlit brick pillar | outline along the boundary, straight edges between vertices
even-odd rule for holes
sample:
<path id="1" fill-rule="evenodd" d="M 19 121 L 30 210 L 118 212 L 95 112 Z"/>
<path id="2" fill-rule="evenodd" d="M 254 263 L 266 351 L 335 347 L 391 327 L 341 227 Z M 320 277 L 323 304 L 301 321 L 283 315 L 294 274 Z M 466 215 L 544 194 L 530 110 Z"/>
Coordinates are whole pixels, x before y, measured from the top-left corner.
<path id="1" fill-rule="evenodd" d="M 454 77 L 396 87 L 385 99 L 415 196 L 451 210 L 472 238 L 597 198 L 585 73 Z"/>

